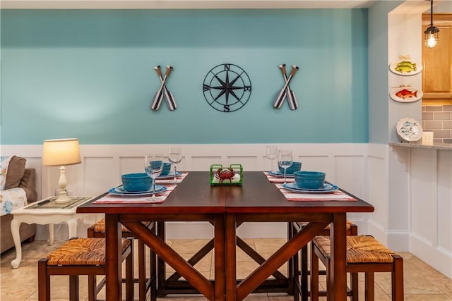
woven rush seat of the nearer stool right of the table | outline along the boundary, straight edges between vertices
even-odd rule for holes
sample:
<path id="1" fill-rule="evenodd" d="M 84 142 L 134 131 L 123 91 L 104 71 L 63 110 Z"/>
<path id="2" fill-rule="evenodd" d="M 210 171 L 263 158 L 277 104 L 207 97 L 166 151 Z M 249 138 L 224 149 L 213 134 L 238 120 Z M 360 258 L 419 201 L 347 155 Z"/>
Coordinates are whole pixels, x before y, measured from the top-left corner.
<path id="1" fill-rule="evenodd" d="M 331 257 L 331 240 L 328 236 L 316 236 L 313 241 L 323 256 Z M 371 236 L 347 236 L 347 264 L 390 263 L 394 261 L 393 254 L 393 251 Z"/>

